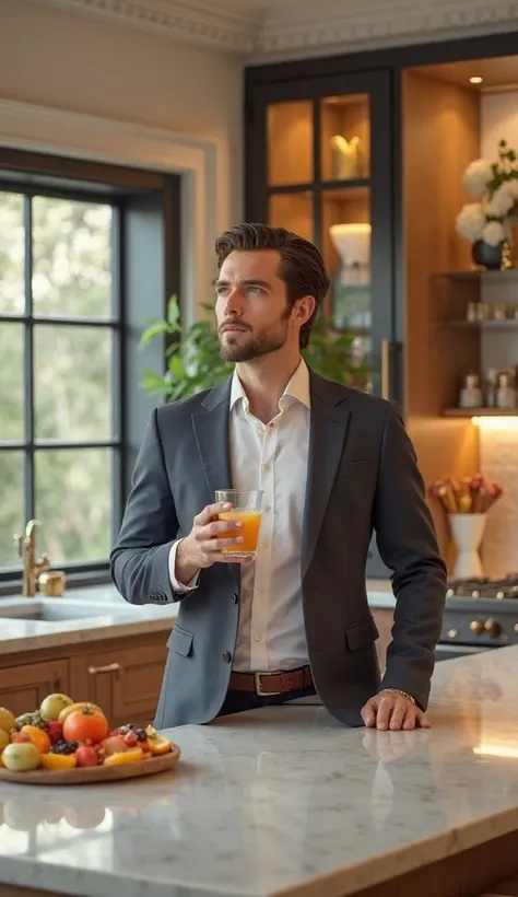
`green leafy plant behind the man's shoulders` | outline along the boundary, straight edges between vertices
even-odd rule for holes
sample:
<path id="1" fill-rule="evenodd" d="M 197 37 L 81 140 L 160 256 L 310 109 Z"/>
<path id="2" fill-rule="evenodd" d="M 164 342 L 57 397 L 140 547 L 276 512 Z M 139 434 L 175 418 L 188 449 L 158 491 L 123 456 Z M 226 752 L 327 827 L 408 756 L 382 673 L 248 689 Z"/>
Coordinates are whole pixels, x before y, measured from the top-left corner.
<path id="1" fill-rule="evenodd" d="M 214 313 L 212 305 L 203 305 Z M 160 396 L 164 403 L 176 401 L 211 388 L 227 377 L 234 365 L 220 357 L 220 340 L 211 321 L 198 321 L 188 328 L 180 324 L 177 296 L 167 304 L 164 321 L 153 318 L 142 334 L 141 345 L 166 338 L 166 370 L 163 374 L 146 368 L 141 386 Z M 354 359 L 355 335 L 337 331 L 333 323 L 323 316 L 315 322 L 311 341 L 303 356 L 308 365 L 329 380 L 348 386 L 365 388 L 370 373 L 368 364 Z"/>

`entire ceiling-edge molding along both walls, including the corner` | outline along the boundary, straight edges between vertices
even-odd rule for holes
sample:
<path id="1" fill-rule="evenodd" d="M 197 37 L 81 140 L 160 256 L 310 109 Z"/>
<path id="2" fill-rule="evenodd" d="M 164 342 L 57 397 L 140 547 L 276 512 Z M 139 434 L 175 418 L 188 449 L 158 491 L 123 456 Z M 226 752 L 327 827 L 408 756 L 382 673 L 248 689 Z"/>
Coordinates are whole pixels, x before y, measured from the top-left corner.
<path id="1" fill-rule="evenodd" d="M 33 0 L 249 62 L 518 28 L 518 0 Z"/>

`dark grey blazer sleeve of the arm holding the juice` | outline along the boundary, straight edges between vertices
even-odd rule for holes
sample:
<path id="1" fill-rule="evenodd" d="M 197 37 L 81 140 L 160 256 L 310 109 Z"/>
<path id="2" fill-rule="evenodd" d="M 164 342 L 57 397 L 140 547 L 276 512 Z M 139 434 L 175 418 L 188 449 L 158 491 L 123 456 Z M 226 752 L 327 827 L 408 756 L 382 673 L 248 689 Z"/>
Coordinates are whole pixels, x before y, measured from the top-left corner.
<path id="1" fill-rule="evenodd" d="M 127 602 L 179 601 L 181 596 L 173 591 L 169 578 L 169 552 L 177 533 L 155 409 L 144 431 L 119 536 L 110 554 L 114 583 Z"/>

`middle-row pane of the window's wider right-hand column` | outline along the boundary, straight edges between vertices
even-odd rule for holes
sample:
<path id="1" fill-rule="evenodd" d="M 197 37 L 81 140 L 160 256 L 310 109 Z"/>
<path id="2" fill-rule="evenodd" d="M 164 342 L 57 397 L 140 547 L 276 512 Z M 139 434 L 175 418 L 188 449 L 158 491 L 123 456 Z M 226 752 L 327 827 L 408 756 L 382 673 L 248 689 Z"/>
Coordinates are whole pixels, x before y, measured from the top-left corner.
<path id="1" fill-rule="evenodd" d="M 104 327 L 34 327 L 36 439 L 87 442 L 111 435 L 113 333 Z"/>

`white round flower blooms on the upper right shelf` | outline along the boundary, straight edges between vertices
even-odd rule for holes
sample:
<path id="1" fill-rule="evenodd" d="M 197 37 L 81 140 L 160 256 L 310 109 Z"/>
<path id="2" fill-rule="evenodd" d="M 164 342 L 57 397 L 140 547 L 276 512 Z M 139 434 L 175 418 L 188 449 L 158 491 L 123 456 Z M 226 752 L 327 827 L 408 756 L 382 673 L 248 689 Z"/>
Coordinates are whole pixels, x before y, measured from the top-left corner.
<path id="1" fill-rule="evenodd" d="M 518 213 L 518 164 L 505 140 L 498 144 L 498 162 L 476 159 L 466 170 L 463 187 L 476 202 L 464 206 L 456 220 L 462 240 L 482 240 L 498 246 L 508 238 L 509 218 Z"/>

